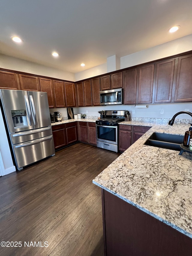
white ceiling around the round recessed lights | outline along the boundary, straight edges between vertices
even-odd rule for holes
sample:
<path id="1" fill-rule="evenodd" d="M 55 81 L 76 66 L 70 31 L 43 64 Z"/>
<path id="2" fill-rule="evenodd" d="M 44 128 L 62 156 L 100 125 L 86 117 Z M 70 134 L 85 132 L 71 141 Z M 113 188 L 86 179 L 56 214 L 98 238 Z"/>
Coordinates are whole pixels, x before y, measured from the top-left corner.
<path id="1" fill-rule="evenodd" d="M 191 0 L 1 0 L 0 53 L 76 73 L 192 34 L 191 10 Z"/>

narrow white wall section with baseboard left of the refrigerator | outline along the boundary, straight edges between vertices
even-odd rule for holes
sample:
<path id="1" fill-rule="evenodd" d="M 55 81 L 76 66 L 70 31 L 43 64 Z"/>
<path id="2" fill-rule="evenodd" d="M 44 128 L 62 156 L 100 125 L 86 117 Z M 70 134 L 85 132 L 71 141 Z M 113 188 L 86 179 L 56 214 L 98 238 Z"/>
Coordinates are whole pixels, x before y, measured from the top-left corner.
<path id="1" fill-rule="evenodd" d="M 9 143 L 7 140 L 7 134 L 5 131 L 4 121 L 0 109 L 0 170 L 1 175 L 12 173 L 15 171 L 13 160 L 10 153 Z"/>

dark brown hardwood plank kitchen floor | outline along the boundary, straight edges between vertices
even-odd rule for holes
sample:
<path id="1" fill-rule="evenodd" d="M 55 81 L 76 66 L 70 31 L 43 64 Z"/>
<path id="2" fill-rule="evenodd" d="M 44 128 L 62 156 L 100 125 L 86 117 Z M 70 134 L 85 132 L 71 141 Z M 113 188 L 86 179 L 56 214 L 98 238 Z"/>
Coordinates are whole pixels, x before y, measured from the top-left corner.
<path id="1" fill-rule="evenodd" d="M 22 243 L 0 246 L 0 255 L 104 255 L 101 188 L 92 179 L 119 155 L 77 143 L 0 177 L 0 242 Z"/>

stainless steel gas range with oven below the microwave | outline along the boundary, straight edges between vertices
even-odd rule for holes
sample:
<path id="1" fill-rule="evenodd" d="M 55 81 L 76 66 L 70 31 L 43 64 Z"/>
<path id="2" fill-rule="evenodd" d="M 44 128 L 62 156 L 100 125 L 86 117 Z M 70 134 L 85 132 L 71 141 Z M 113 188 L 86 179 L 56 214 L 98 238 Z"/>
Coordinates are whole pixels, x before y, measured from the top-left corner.
<path id="1" fill-rule="evenodd" d="M 96 120 L 97 146 L 118 152 L 118 123 L 125 121 L 125 110 L 106 110 L 105 118 Z"/>

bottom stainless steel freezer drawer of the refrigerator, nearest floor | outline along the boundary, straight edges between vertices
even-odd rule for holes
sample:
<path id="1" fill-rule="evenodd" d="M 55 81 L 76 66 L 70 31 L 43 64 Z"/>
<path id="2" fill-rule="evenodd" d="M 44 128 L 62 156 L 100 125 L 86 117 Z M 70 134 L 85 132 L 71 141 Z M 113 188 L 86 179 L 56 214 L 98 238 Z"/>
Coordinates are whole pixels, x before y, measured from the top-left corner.
<path id="1" fill-rule="evenodd" d="M 13 145 L 17 169 L 55 154 L 53 136 Z"/>

